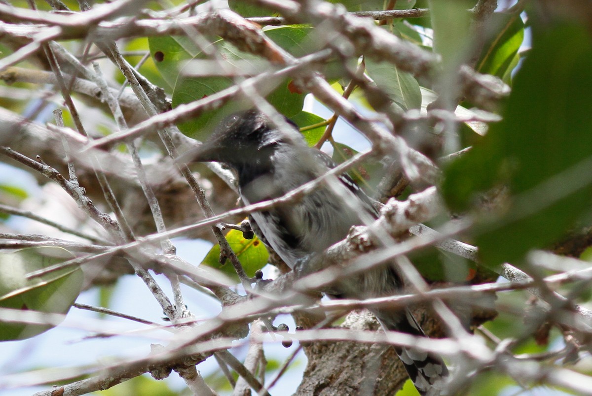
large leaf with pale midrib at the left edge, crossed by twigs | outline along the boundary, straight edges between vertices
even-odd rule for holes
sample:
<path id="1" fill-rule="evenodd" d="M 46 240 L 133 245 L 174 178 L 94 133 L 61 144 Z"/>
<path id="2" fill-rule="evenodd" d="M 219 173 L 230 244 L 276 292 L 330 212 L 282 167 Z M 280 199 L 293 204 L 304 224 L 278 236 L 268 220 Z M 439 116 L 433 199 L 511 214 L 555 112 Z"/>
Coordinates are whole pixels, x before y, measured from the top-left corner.
<path id="1" fill-rule="evenodd" d="M 65 249 L 49 246 L 0 252 L 0 307 L 67 313 L 81 291 L 80 268 L 65 268 L 30 280 L 25 275 L 73 257 Z M 0 340 L 25 339 L 52 327 L 0 322 Z"/>

